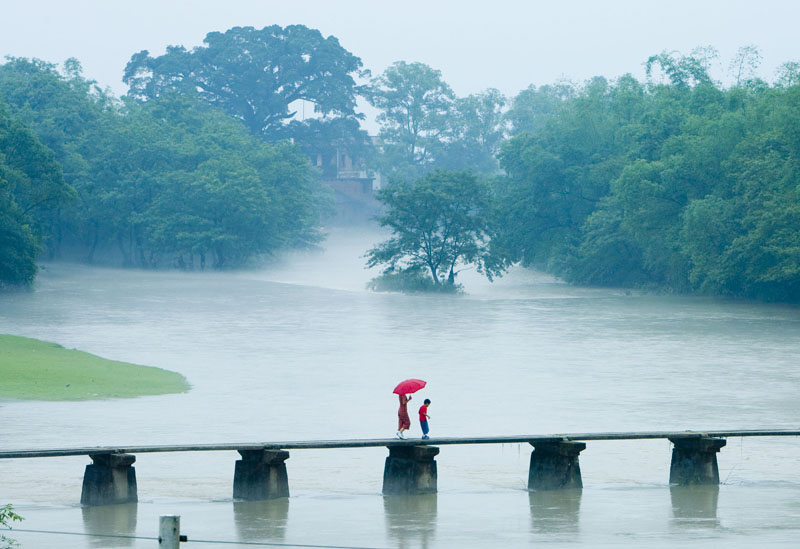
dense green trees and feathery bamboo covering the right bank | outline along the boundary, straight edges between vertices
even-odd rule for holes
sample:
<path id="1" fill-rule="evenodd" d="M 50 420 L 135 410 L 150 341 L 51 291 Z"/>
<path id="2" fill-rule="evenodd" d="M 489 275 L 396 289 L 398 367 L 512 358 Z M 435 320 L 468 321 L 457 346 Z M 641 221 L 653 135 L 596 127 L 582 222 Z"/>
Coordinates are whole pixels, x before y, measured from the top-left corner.
<path id="1" fill-rule="evenodd" d="M 725 89 L 715 52 L 651 57 L 666 81 L 595 78 L 529 88 L 500 154 L 501 244 L 579 283 L 800 300 L 800 86 L 752 77 L 743 48 Z"/>

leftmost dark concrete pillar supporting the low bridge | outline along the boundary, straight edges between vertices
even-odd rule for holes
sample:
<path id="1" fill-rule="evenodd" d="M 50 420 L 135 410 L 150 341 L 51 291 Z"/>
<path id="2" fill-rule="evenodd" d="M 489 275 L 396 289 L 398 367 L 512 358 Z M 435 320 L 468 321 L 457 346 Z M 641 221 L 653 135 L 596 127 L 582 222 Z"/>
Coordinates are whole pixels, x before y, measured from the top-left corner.
<path id="1" fill-rule="evenodd" d="M 81 505 L 112 505 L 139 501 L 132 454 L 93 454 L 83 474 Z"/>

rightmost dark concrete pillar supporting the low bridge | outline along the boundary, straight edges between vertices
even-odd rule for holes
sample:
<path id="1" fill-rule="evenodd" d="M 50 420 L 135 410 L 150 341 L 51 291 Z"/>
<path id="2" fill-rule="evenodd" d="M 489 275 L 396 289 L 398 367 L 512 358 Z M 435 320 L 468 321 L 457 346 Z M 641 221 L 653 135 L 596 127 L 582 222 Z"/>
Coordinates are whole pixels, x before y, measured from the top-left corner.
<path id="1" fill-rule="evenodd" d="M 669 467 L 669 483 L 680 486 L 719 484 L 717 452 L 725 446 L 724 438 L 671 438 L 674 444 Z"/>

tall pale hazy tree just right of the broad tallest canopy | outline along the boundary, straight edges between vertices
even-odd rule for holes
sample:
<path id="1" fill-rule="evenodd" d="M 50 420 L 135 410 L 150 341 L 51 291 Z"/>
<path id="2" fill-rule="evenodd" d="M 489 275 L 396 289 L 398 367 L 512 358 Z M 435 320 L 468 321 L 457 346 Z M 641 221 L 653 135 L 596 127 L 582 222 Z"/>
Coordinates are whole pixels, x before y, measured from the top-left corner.
<path id="1" fill-rule="evenodd" d="M 398 61 L 372 79 L 367 98 L 382 111 L 378 122 L 385 173 L 407 180 L 420 177 L 443 146 L 455 99 L 441 71 Z"/>

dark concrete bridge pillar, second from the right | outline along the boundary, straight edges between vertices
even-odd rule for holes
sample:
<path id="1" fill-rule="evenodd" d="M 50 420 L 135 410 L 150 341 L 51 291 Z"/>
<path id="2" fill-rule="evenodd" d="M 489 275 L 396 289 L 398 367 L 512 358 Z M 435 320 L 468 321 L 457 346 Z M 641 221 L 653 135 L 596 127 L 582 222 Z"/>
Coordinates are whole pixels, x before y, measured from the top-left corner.
<path id="1" fill-rule="evenodd" d="M 578 454 L 586 449 L 586 443 L 556 440 L 530 444 L 533 452 L 528 470 L 528 490 L 583 488 Z"/>

